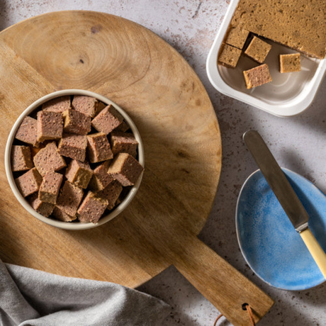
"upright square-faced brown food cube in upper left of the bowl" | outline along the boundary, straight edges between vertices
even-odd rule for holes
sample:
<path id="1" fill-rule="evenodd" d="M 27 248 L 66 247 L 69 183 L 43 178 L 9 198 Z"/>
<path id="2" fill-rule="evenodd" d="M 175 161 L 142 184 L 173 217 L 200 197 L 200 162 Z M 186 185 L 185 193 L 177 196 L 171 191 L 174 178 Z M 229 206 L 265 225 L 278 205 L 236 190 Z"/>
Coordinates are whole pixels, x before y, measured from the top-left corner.
<path id="1" fill-rule="evenodd" d="M 62 114 L 38 111 L 38 141 L 55 140 L 62 137 Z"/>

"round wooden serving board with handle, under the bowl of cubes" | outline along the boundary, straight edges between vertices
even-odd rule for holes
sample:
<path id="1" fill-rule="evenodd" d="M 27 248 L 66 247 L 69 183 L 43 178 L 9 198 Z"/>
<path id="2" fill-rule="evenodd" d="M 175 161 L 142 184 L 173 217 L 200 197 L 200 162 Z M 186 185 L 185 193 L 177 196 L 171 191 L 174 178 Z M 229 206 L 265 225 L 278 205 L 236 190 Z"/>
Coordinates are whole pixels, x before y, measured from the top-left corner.
<path id="1" fill-rule="evenodd" d="M 28 215 L 1 164 L 4 262 L 130 287 L 174 264 L 234 325 L 250 325 L 243 303 L 257 321 L 266 314 L 273 300 L 196 237 L 213 205 L 222 147 L 208 94 L 176 50 L 123 18 L 63 11 L 1 32 L 0 57 L 1 162 L 16 118 L 60 89 L 87 89 L 116 102 L 145 146 L 133 203 L 109 223 L 78 232 Z"/>

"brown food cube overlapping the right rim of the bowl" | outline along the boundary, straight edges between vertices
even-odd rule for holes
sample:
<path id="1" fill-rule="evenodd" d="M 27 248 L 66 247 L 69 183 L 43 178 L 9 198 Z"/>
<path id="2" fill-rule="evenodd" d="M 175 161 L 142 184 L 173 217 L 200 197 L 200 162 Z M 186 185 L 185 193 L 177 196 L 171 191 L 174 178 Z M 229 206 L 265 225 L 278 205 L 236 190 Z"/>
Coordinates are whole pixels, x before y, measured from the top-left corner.
<path id="1" fill-rule="evenodd" d="M 123 186 L 133 186 L 143 170 L 144 168 L 137 159 L 130 154 L 119 153 L 108 167 L 108 174 L 111 174 Z"/>

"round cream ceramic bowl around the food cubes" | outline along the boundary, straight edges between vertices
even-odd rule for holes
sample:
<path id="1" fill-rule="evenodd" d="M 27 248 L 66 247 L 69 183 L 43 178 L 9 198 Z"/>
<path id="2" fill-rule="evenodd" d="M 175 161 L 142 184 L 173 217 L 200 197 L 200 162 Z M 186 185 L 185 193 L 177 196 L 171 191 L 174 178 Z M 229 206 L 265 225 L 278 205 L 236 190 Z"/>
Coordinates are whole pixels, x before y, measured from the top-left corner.
<path id="1" fill-rule="evenodd" d="M 121 113 L 121 115 L 123 116 L 125 121 L 128 123 L 128 125 L 130 125 L 130 129 L 132 130 L 133 135 L 135 135 L 135 138 L 138 142 L 138 161 L 140 162 L 142 167 L 144 167 L 144 164 L 145 164 L 144 147 L 142 145 L 140 133 L 137 130 L 135 123 L 133 122 L 133 120 L 131 120 L 131 118 L 128 116 L 128 114 L 125 113 L 125 111 L 123 111 L 123 109 L 120 108 L 118 105 L 116 105 L 116 103 L 113 103 L 113 101 L 107 99 L 104 96 L 93 93 L 91 91 L 83 91 L 80 89 L 65 89 L 63 91 L 56 91 L 54 93 L 43 96 L 41 99 L 38 99 L 38 101 L 35 101 L 33 104 L 28 106 L 28 108 L 26 108 L 26 110 L 23 111 L 23 113 L 21 113 L 21 116 L 18 117 L 18 119 L 16 120 L 16 123 L 14 123 L 13 128 L 11 129 L 11 132 L 9 134 L 9 137 L 8 137 L 8 140 L 6 143 L 6 151 L 5 151 L 6 175 L 7 175 L 8 181 L 9 181 L 9 185 L 11 186 L 11 189 L 12 189 L 14 195 L 18 199 L 19 203 L 21 203 L 23 208 L 25 208 L 28 211 L 28 213 L 33 215 L 35 218 L 38 218 L 39 220 L 43 221 L 44 223 L 47 223 L 47 224 L 55 226 L 55 227 L 60 227 L 62 229 L 66 229 L 66 230 L 85 230 L 85 229 L 90 229 L 91 227 L 103 225 L 104 223 L 108 222 L 109 220 L 112 220 L 118 214 L 120 214 L 135 197 L 135 194 L 136 194 L 136 192 L 140 186 L 140 183 L 142 181 L 142 174 L 141 174 L 140 178 L 137 180 L 135 186 L 133 186 L 133 188 L 130 189 L 128 195 L 123 199 L 123 201 L 111 213 L 109 213 L 108 215 L 101 218 L 98 223 L 94 224 L 94 223 L 80 223 L 80 222 L 72 222 L 72 223 L 61 222 L 59 220 L 45 218 L 43 215 L 40 215 L 38 212 L 36 212 L 30 206 L 28 201 L 26 201 L 26 199 L 23 198 L 20 191 L 18 191 L 16 183 L 13 179 L 13 173 L 11 172 L 11 147 L 13 145 L 13 140 L 15 138 L 16 131 L 17 131 L 19 125 L 21 125 L 23 118 L 30 115 L 30 113 L 32 113 L 36 108 L 41 106 L 43 103 L 50 101 L 51 99 L 55 99 L 56 97 L 65 96 L 65 95 L 92 96 L 103 103 L 113 105 L 119 111 L 119 113 Z"/>

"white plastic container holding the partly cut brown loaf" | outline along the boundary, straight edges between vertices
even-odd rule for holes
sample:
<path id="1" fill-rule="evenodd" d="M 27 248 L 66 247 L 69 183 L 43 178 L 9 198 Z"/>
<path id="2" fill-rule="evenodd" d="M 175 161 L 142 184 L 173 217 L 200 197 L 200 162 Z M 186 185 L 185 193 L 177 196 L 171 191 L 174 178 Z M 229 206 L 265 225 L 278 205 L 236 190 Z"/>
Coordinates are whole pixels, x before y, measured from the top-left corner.
<path id="1" fill-rule="evenodd" d="M 235 69 L 217 64 L 218 52 L 225 33 L 237 8 L 239 0 L 232 0 L 218 35 L 208 53 L 206 70 L 210 83 L 221 93 L 248 103 L 274 116 L 296 116 L 305 111 L 313 102 L 317 90 L 325 76 L 326 61 L 301 55 L 301 71 L 281 74 L 279 55 L 296 53 L 288 47 L 267 41 L 272 45 L 264 63 L 269 65 L 273 81 L 253 89 L 247 89 L 243 71 L 257 67 L 256 62 L 241 55 Z"/>

